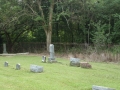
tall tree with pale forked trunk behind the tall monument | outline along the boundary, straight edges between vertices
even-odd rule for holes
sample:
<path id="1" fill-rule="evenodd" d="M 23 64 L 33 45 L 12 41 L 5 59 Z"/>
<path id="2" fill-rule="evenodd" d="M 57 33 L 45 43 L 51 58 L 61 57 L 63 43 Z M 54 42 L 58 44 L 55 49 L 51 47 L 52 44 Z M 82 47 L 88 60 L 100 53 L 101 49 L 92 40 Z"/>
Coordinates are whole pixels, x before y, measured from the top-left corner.
<path id="1" fill-rule="evenodd" d="M 55 0 L 23 0 L 26 8 L 26 13 L 34 17 L 34 20 L 39 22 L 43 27 L 46 34 L 47 50 L 51 44 L 52 37 L 52 22 L 53 22 L 53 9 Z"/>

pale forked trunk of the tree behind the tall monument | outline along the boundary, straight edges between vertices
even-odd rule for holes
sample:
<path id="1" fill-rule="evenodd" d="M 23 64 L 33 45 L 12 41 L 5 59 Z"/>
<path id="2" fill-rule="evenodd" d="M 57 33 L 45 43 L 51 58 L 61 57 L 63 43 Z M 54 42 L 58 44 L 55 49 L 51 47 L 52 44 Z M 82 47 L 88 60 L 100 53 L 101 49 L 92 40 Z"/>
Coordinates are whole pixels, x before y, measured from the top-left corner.
<path id="1" fill-rule="evenodd" d="M 46 48 L 49 51 L 49 45 L 51 44 L 52 39 L 52 18 L 53 18 L 53 9 L 54 9 L 54 0 L 51 0 L 50 7 L 49 7 L 49 15 L 48 15 L 48 22 L 45 20 L 44 12 L 41 7 L 41 1 L 37 0 L 39 10 L 41 12 L 41 17 L 43 18 L 43 29 L 46 34 Z"/>

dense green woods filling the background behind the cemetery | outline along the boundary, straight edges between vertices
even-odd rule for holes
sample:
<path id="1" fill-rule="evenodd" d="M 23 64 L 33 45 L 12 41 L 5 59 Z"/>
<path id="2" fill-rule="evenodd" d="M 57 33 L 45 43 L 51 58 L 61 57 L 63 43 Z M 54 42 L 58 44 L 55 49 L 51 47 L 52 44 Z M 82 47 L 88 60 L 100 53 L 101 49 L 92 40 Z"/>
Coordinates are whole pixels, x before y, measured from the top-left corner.
<path id="1" fill-rule="evenodd" d="M 0 45 L 20 42 L 119 45 L 120 0 L 0 0 Z"/>

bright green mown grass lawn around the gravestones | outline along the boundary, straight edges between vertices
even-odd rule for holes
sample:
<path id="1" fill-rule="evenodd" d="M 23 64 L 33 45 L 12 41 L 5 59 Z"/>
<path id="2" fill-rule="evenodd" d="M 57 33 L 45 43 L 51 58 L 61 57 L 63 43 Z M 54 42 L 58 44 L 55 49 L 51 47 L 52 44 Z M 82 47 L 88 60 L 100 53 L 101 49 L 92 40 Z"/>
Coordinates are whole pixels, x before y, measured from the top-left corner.
<path id="1" fill-rule="evenodd" d="M 92 90 L 92 85 L 120 90 L 120 63 L 90 62 L 92 69 L 84 69 L 70 67 L 68 59 L 56 60 L 59 63 L 42 63 L 41 56 L 0 56 L 0 90 Z M 15 70 L 17 63 L 21 70 Z M 30 72 L 31 64 L 43 66 L 44 72 Z"/>

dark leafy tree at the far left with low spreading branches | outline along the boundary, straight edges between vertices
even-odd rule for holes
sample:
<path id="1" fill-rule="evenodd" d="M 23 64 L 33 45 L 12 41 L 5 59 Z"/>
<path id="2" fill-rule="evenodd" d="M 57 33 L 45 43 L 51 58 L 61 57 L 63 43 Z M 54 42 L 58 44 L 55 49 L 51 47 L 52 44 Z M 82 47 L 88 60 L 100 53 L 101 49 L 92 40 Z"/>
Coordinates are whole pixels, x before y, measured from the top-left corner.
<path id="1" fill-rule="evenodd" d="M 23 23 L 21 24 L 23 11 L 16 0 L 0 1 L 0 32 L 3 42 L 8 44 L 9 52 L 18 38 L 26 31 L 25 24 L 24 26 Z"/>

